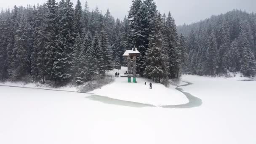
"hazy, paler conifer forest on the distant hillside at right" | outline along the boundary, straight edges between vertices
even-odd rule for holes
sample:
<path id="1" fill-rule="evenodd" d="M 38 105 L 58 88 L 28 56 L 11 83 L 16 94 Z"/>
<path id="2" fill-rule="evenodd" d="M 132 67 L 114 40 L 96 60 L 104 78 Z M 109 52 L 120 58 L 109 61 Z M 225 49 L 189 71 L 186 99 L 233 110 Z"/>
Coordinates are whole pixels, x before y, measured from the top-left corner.
<path id="1" fill-rule="evenodd" d="M 233 10 L 194 24 L 179 26 L 188 55 L 184 72 L 217 75 L 256 72 L 256 14 Z"/>

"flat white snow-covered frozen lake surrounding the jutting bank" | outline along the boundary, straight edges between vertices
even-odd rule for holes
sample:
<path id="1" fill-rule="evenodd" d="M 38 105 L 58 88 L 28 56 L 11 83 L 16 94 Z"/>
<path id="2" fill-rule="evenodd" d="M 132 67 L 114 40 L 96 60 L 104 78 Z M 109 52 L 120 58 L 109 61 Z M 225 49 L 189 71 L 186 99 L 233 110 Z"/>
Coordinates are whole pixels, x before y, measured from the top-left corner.
<path id="1" fill-rule="evenodd" d="M 256 144 L 256 81 L 238 79 L 184 75 L 203 101 L 187 109 L 0 86 L 0 144 Z"/>

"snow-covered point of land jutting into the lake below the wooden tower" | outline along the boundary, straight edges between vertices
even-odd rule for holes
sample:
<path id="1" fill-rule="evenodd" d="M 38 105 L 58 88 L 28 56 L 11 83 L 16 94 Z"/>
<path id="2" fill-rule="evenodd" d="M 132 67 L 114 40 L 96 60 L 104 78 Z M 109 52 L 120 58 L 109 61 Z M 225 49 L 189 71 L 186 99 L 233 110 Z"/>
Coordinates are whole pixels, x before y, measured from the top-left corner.
<path id="1" fill-rule="evenodd" d="M 120 71 L 109 72 L 109 75 L 114 75 L 115 72 L 123 74 L 126 70 L 127 67 L 122 67 Z M 148 79 L 146 80 L 147 85 L 144 85 L 145 78 L 138 77 L 137 83 L 127 83 L 127 77 L 117 77 L 113 83 L 90 93 L 155 106 L 186 104 L 189 102 L 187 97 L 180 91 L 177 91 L 174 86 L 166 88 L 162 84 L 154 83 Z M 149 89 L 150 82 L 152 83 L 152 89 Z"/>

